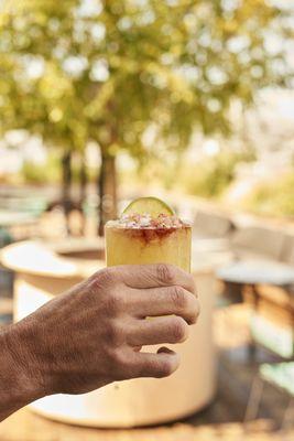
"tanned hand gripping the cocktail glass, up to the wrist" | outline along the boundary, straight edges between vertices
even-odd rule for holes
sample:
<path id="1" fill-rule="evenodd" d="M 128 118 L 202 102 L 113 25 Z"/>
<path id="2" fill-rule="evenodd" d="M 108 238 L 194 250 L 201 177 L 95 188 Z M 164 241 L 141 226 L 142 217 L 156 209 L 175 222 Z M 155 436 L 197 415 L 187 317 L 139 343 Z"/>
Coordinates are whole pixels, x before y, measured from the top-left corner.
<path id="1" fill-rule="evenodd" d="M 39 395 L 81 394 L 113 380 L 171 375 L 176 353 L 141 347 L 185 341 L 198 312 L 193 277 L 183 270 L 110 267 L 12 325 L 7 344 Z"/>

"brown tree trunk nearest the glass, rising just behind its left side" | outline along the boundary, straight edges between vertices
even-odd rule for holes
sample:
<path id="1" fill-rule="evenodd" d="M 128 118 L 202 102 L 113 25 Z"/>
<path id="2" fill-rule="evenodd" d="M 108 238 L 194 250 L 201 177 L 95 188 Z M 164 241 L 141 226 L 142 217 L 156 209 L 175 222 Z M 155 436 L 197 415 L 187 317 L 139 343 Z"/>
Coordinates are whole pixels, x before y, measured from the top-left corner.
<path id="1" fill-rule="evenodd" d="M 98 234 L 104 236 L 107 220 L 117 217 L 117 173 L 116 158 L 101 152 L 101 166 L 98 180 L 99 225 Z"/>

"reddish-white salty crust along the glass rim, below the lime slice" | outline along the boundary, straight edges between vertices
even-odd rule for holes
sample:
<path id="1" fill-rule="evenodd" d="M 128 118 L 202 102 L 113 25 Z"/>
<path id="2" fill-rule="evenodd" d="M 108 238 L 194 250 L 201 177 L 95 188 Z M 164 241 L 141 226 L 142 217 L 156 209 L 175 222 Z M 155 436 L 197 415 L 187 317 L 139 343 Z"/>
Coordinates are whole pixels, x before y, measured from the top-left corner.
<path id="1" fill-rule="evenodd" d="M 152 217 L 150 213 L 139 214 L 123 214 L 117 220 L 109 220 L 107 226 L 118 227 L 118 228 L 183 228 L 190 227 L 190 223 L 179 219 L 175 215 L 166 215 L 161 213 L 157 217 Z"/>

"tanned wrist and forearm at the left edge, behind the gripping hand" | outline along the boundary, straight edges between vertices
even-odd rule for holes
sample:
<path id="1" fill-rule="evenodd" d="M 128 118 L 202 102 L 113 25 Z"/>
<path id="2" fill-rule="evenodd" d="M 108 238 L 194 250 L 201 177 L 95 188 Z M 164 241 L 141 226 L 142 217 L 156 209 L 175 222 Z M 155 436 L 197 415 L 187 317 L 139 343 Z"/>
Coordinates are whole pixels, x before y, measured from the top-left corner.
<path id="1" fill-rule="evenodd" d="M 0 421 L 43 395 L 18 326 L 0 331 Z"/>

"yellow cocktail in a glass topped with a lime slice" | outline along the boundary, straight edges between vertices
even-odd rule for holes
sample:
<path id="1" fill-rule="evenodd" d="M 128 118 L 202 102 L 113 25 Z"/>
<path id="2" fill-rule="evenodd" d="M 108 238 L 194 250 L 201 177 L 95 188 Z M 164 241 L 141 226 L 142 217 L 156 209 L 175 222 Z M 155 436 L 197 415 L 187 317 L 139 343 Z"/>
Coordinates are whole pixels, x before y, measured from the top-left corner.
<path id="1" fill-rule="evenodd" d="M 164 202 L 141 197 L 107 223 L 107 266 L 165 262 L 189 271 L 190 233 Z"/>

